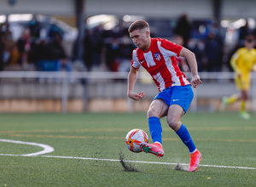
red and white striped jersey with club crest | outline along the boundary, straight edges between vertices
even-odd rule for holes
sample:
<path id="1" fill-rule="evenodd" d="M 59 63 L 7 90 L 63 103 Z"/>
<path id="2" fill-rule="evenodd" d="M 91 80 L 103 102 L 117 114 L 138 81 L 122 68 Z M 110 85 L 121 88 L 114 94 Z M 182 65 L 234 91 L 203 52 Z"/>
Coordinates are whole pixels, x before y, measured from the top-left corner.
<path id="1" fill-rule="evenodd" d="M 182 48 L 166 39 L 151 38 L 151 45 L 147 51 L 140 48 L 133 50 L 131 66 L 138 69 L 142 65 L 160 92 L 171 86 L 188 85 L 190 83 L 176 61 Z"/>

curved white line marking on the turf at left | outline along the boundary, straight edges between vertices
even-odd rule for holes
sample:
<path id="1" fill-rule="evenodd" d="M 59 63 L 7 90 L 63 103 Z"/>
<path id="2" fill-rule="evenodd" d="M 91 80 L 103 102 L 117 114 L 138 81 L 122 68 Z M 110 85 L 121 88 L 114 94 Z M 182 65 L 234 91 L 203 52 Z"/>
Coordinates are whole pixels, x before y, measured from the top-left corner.
<path id="1" fill-rule="evenodd" d="M 44 150 L 42 150 L 42 151 L 38 151 L 35 153 L 26 154 L 26 155 L 17 155 L 17 156 L 39 156 L 39 155 L 43 155 L 43 154 L 55 151 L 55 149 L 53 147 L 49 146 L 48 144 L 38 144 L 38 143 L 34 143 L 34 142 L 23 142 L 23 141 L 11 140 L 11 139 L 0 139 L 0 142 L 8 142 L 8 143 L 15 143 L 15 144 L 30 144 L 30 145 L 39 146 L 39 147 L 44 148 Z M 6 155 L 12 156 L 11 154 L 6 154 Z"/>

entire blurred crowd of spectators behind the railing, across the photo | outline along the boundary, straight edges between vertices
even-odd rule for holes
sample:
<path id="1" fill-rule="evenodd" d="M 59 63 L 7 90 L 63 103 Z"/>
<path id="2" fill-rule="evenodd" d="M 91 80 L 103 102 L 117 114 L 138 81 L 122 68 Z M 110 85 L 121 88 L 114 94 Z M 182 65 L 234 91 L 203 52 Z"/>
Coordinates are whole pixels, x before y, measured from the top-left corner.
<path id="1" fill-rule="evenodd" d="M 189 48 L 196 55 L 199 71 L 223 71 L 229 66 L 229 59 L 247 34 L 256 36 L 256 29 L 242 26 L 239 40 L 232 50 L 224 49 L 224 34 L 218 24 L 210 23 L 204 34 L 200 35 L 193 21 L 183 14 L 177 25 L 170 31 L 170 39 Z M 150 24 L 151 26 L 151 24 Z M 63 46 L 63 32 L 55 27 L 49 28 L 46 37 L 40 37 L 42 26 L 32 20 L 24 27 L 20 38 L 14 40 L 9 25 L 0 27 L 0 71 L 81 71 L 73 68 L 73 55 L 67 55 Z M 152 37 L 160 37 L 152 30 Z M 105 71 L 129 71 L 131 52 L 136 46 L 131 42 L 127 27 L 116 26 L 104 30 L 102 25 L 84 31 L 83 70 L 94 71 L 103 67 Z M 183 71 L 189 71 L 185 59 L 177 58 Z M 102 70 L 102 69 L 101 69 Z"/>

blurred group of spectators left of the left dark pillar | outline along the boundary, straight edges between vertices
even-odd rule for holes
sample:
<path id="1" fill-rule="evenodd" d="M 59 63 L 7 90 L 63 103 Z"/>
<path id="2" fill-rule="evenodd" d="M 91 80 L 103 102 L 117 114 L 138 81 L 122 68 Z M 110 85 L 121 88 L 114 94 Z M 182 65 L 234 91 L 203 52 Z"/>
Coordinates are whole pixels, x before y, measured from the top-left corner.
<path id="1" fill-rule="evenodd" d="M 62 46 L 62 33 L 49 28 L 48 36 L 41 38 L 42 26 L 32 20 L 24 27 L 20 38 L 14 40 L 9 25 L 1 25 L 0 71 L 60 71 L 61 66 L 67 64 L 67 54 Z"/>

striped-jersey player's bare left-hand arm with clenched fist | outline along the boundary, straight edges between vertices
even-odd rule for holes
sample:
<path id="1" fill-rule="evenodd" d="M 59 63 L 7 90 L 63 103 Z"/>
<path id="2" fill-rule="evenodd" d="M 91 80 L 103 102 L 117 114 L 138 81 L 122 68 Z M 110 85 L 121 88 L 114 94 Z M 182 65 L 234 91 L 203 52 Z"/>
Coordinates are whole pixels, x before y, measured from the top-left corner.
<path id="1" fill-rule="evenodd" d="M 143 92 L 140 92 L 138 94 L 133 92 L 134 85 L 137 82 L 137 75 L 138 75 L 138 69 L 135 69 L 135 68 L 131 67 L 131 70 L 128 74 L 127 95 L 128 95 L 129 98 L 134 99 L 134 100 L 142 99 L 145 95 Z"/>

